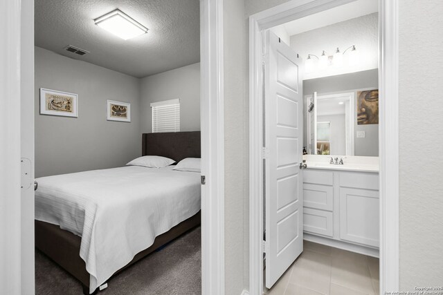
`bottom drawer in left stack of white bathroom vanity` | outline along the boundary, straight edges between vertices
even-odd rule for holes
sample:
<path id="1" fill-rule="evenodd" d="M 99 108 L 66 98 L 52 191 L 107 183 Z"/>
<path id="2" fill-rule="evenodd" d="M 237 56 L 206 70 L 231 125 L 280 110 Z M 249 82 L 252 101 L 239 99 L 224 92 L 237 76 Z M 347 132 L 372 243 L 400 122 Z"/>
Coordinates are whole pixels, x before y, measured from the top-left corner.
<path id="1" fill-rule="evenodd" d="M 332 212 L 303 208 L 303 230 L 323 236 L 334 235 Z"/>

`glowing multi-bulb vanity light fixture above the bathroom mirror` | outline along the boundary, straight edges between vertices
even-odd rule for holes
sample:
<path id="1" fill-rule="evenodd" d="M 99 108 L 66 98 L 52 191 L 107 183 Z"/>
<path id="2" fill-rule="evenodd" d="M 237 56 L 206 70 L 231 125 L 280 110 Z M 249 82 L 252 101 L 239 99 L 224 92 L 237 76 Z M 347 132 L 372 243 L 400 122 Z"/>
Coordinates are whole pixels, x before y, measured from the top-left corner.
<path id="1" fill-rule="evenodd" d="M 325 70 L 327 66 L 334 66 L 336 68 L 340 68 L 343 66 L 343 58 L 345 56 L 345 53 L 350 50 L 347 54 L 347 65 L 350 67 L 354 67 L 359 62 L 358 52 L 355 48 L 355 45 L 352 45 L 348 48 L 346 48 L 343 53 L 341 53 L 340 49 L 337 47 L 336 52 L 332 56 L 327 56 L 326 51 L 323 50 L 320 57 L 317 57 L 316 55 L 307 55 L 307 59 L 305 61 L 305 72 L 311 73 L 318 68 L 318 70 Z M 316 57 L 318 59 L 318 66 L 316 66 L 314 59 L 311 57 Z"/>

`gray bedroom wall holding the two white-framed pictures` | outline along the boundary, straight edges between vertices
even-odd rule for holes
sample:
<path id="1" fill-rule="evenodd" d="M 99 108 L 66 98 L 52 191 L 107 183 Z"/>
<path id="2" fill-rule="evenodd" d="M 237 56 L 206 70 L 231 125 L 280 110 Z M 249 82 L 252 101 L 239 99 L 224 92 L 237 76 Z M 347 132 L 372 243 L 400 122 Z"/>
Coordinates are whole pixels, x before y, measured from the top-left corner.
<path id="1" fill-rule="evenodd" d="M 39 88 L 78 94 L 78 117 L 39 115 Z M 132 122 L 107 121 L 107 99 Z M 35 175 L 123 166 L 141 155 L 139 79 L 35 47 Z"/>

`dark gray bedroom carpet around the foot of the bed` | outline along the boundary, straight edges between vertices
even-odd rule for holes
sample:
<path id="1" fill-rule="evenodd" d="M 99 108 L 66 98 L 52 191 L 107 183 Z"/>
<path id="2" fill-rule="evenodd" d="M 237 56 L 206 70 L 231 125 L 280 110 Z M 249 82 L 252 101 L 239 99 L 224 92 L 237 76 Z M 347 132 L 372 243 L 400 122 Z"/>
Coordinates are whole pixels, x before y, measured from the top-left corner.
<path id="1" fill-rule="evenodd" d="M 36 295 L 82 295 L 78 280 L 35 250 Z M 108 281 L 98 295 L 201 294 L 201 229 L 188 231 Z"/>

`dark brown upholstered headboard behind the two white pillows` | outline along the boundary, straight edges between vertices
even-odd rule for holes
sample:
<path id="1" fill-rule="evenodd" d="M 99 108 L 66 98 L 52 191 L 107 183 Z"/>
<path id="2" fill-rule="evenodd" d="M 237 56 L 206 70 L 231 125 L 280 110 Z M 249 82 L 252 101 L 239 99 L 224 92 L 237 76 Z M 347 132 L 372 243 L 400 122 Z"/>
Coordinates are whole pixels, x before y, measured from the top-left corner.
<path id="1" fill-rule="evenodd" d="M 200 131 L 143 133 L 142 155 L 161 155 L 176 162 L 201 158 Z"/>

